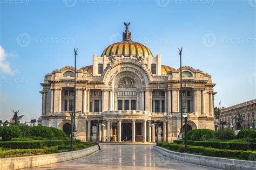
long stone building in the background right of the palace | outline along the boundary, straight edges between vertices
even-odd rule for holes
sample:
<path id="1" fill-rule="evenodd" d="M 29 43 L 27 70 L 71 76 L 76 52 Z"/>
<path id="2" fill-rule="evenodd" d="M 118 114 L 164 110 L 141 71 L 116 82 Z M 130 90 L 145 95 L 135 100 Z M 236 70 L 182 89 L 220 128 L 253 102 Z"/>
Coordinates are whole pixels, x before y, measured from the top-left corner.
<path id="1" fill-rule="evenodd" d="M 233 130 L 236 130 L 236 121 L 234 119 L 235 116 L 240 114 L 244 118 L 244 122 L 242 123 L 242 128 L 248 129 L 255 127 L 255 112 L 256 112 L 256 99 L 247 101 L 244 103 L 232 105 L 231 107 L 223 108 L 221 109 L 220 114 L 220 122 L 224 122 L 220 126 L 221 129 L 224 128 L 226 125 L 227 128 L 230 128 L 230 126 L 233 126 Z"/>

